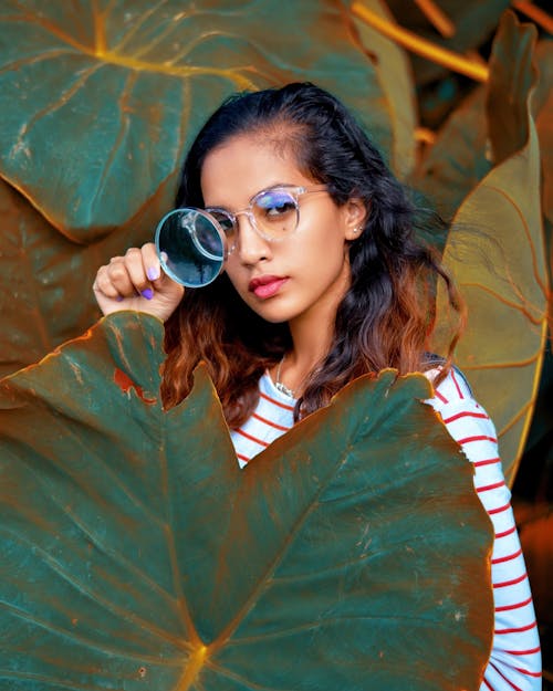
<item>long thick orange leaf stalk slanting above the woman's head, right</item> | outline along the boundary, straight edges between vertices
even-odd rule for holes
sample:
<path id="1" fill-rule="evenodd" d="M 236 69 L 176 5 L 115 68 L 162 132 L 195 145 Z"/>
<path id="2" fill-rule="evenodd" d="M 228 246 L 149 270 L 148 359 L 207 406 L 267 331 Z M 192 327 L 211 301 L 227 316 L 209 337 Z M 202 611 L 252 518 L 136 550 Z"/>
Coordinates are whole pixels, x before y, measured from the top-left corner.
<path id="1" fill-rule="evenodd" d="M 367 9 L 363 2 L 353 2 L 351 10 L 352 14 L 361 19 L 361 21 L 365 22 L 369 27 L 373 27 L 373 29 L 376 29 L 376 31 L 379 31 L 403 48 L 417 53 L 417 55 L 421 55 L 431 62 L 436 62 L 439 65 L 448 67 L 449 70 L 453 70 L 453 72 L 465 74 L 477 82 L 488 81 L 490 71 L 487 65 L 467 60 L 467 57 L 463 57 L 458 53 L 453 53 L 445 48 L 435 45 L 430 41 L 421 39 L 416 33 L 413 33 L 413 31 L 403 29 L 401 27 L 398 27 L 382 17 L 378 17 L 378 14 L 375 14 Z"/>

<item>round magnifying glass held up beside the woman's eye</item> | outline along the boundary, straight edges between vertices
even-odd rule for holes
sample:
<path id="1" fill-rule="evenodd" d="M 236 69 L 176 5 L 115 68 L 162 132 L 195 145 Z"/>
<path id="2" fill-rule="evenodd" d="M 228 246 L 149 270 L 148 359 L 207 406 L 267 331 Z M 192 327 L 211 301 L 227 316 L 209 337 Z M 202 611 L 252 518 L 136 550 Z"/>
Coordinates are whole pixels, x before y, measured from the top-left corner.
<path id="1" fill-rule="evenodd" d="M 163 270 L 187 287 L 202 287 L 221 273 L 227 239 L 217 220 L 194 207 L 174 209 L 156 228 L 156 251 Z"/>

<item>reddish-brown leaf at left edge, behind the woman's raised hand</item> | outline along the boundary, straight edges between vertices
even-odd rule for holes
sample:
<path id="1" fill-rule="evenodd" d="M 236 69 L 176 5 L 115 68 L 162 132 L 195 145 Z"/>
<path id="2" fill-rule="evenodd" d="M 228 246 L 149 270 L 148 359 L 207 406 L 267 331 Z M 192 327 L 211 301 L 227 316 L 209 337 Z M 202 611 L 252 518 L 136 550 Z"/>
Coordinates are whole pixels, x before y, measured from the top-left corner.
<path id="1" fill-rule="evenodd" d="M 100 316 L 92 292 L 97 269 L 150 240 L 153 213 L 155 207 L 103 240 L 76 244 L 0 179 L 0 376 L 44 357 Z"/>

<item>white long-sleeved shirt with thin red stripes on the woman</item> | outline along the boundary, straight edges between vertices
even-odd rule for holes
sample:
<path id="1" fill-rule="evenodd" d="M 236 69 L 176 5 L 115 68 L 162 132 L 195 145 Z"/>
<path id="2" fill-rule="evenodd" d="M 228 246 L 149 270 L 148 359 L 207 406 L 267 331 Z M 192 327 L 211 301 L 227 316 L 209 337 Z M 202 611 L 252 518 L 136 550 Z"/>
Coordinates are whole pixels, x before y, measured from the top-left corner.
<path id="1" fill-rule="evenodd" d="M 431 380 L 437 373 L 432 369 L 426 375 Z M 261 377 L 259 389 L 255 411 L 244 425 L 231 431 L 241 468 L 294 423 L 295 400 L 279 391 L 268 373 Z M 426 402 L 439 413 L 472 463 L 476 491 L 495 531 L 491 559 L 495 606 L 493 647 L 480 691 L 539 691 L 538 625 L 495 429 L 458 370 L 451 369 L 436 387 L 434 398 Z"/>

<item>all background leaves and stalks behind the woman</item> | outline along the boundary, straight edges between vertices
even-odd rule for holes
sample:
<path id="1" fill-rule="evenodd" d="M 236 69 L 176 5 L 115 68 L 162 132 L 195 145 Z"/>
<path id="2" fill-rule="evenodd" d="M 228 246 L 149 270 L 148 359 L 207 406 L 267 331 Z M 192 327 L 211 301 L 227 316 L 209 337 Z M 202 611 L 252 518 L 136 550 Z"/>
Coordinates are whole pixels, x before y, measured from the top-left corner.
<path id="1" fill-rule="evenodd" d="M 551 18 L 536 15 L 535 3 L 505 13 L 505 0 L 441 0 L 451 33 L 420 4 L 4 0 L 0 374 L 97 318 L 97 266 L 152 238 L 171 207 L 188 143 L 226 95 L 314 81 L 343 98 L 396 174 L 453 220 L 448 238 L 430 241 L 445 248 L 469 303 L 459 362 L 498 425 L 505 474 L 517 477 L 521 537 L 546 627 Z M 409 35 L 401 48 L 362 19 L 359 6 L 393 30 L 447 46 L 484 76 L 415 54 Z"/>

